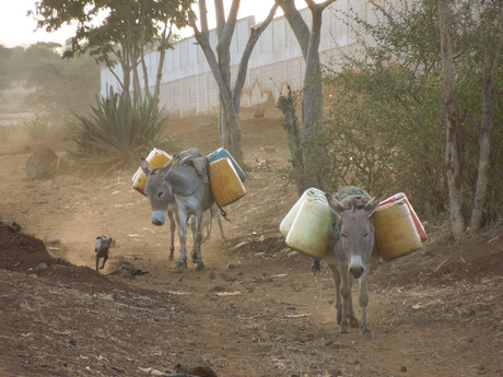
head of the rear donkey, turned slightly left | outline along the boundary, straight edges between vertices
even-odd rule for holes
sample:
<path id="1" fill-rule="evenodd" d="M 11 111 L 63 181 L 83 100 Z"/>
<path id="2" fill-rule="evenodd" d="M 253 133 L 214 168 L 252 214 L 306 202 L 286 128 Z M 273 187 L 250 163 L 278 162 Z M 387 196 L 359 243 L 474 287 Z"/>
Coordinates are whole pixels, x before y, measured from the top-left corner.
<path id="1" fill-rule="evenodd" d="M 141 169 L 147 176 L 145 195 L 152 205 L 152 224 L 163 225 L 167 205 L 173 199 L 172 186 L 167 181 L 167 173 L 172 164 L 152 170 L 147 160 L 141 160 Z"/>

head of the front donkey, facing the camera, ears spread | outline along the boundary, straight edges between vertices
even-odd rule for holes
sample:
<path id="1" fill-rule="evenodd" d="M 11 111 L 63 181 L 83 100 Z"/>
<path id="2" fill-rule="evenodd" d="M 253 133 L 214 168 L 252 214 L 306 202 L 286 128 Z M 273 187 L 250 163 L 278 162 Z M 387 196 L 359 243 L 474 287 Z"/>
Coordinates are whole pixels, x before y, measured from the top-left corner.
<path id="1" fill-rule="evenodd" d="M 361 204 L 361 197 L 349 197 L 342 203 L 329 193 L 326 197 L 330 208 L 340 217 L 340 236 L 349 271 L 354 279 L 359 279 L 365 272 L 365 268 L 370 268 L 374 248 L 371 216 L 379 205 L 381 193 L 366 204 Z"/>

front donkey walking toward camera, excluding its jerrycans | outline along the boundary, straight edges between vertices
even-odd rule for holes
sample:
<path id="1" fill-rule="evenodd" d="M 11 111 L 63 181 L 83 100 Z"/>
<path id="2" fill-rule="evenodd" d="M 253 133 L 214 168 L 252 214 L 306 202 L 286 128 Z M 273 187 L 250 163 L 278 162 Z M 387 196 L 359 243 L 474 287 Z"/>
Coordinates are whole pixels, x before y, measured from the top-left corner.
<path id="1" fill-rule="evenodd" d="M 361 188 L 349 186 L 340 188 L 335 195 L 326 193 L 326 198 L 338 215 L 334 224 L 334 243 L 328 247 L 323 260 L 330 268 L 336 283 L 339 332 L 346 333 L 350 327 L 360 327 L 351 297 L 353 279 L 360 279 L 363 337 L 373 339 L 366 318 L 366 282 L 374 249 L 372 214 L 379 204 L 381 193 L 371 199 Z M 316 269 L 319 269 L 319 266 L 314 266 L 314 270 Z"/>

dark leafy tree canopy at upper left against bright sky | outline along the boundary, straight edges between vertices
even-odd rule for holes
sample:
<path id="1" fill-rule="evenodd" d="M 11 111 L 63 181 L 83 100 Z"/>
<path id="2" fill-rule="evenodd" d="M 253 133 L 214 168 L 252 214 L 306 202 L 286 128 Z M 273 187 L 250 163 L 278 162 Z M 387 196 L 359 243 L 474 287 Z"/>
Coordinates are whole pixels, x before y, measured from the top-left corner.
<path id="1" fill-rule="evenodd" d="M 188 24 L 187 11 L 194 0 L 42 0 L 33 14 L 39 28 L 52 32 L 63 24 L 77 24 L 71 49 L 89 51 L 98 61 L 113 64 L 112 54 L 129 40 L 134 45 L 159 43 L 167 24 L 182 28 Z M 169 47 L 166 42 L 164 48 Z"/>

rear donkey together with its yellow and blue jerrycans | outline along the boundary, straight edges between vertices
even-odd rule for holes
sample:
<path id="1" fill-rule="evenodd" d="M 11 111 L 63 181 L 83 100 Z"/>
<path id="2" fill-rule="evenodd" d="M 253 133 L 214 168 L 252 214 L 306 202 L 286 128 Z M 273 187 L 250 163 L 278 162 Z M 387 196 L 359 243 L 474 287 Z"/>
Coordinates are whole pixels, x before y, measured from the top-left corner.
<path id="1" fill-rule="evenodd" d="M 223 149 L 207 157 L 196 149 L 183 151 L 174 157 L 154 149 L 147 160 L 142 160 L 141 167 L 132 177 L 132 186 L 149 198 L 152 224 L 164 225 L 165 215 L 168 215 L 172 233 L 169 259 L 173 259 L 175 221 L 178 224 L 180 257 L 175 262 L 177 271 L 182 272 L 187 267 L 187 222 L 190 216 L 194 216 L 195 224 L 190 256 L 197 270 L 201 270 L 202 214 L 217 203 L 222 216 L 226 219 L 222 207 L 235 202 L 246 193 L 244 179 L 245 176 L 234 158 Z"/>

